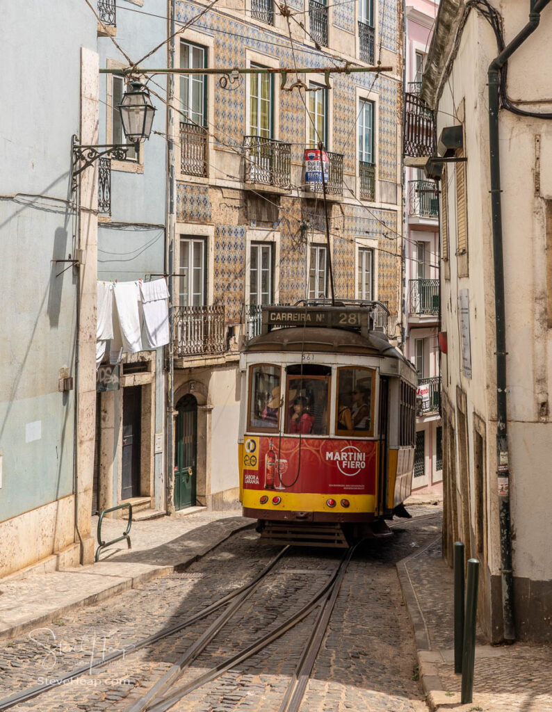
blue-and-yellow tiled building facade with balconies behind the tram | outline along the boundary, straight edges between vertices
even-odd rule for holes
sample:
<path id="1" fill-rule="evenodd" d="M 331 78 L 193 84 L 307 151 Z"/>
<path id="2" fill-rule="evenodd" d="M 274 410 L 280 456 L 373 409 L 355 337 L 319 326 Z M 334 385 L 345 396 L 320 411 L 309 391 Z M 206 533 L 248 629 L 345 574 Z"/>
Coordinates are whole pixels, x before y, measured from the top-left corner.
<path id="1" fill-rule="evenodd" d="M 195 94 L 189 79 L 176 82 L 174 302 L 187 309 L 175 329 L 175 508 L 236 499 L 238 353 L 257 328 L 255 308 L 330 297 L 323 197 L 308 190 L 305 176 L 315 125 L 315 144 L 322 140 L 330 152 L 335 297 L 382 301 L 387 333 L 400 340 L 402 4 L 294 0 L 287 9 L 259 0 L 214 6 L 177 37 L 175 63 L 391 69 L 332 74 L 330 88 L 323 71 L 288 73 L 285 88 L 279 73 L 230 76 L 226 88 L 219 75 L 194 75 Z M 177 3 L 177 24 L 199 11 Z M 297 81 L 318 91 L 289 90 Z M 190 350 L 179 334 L 198 319 Z M 182 449 L 179 433 L 188 425 L 192 447 Z M 183 489 L 189 466 L 195 491 L 183 501 L 178 480 Z"/>

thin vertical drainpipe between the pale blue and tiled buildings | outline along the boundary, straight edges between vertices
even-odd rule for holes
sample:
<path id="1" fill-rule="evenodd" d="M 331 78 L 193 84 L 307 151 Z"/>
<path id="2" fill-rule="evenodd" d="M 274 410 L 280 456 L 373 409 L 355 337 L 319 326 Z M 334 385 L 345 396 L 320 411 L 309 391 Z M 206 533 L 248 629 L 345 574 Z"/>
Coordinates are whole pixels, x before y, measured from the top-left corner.
<path id="1" fill-rule="evenodd" d="M 168 46 L 168 66 L 175 66 L 175 0 L 167 0 L 169 17 L 170 43 Z M 175 98 L 175 75 L 167 78 L 167 273 L 169 280 L 169 347 L 168 347 L 168 378 L 167 378 L 167 482 L 166 511 L 172 513 L 175 509 L 175 144 L 173 142 L 175 128 L 175 111 L 172 101 Z"/>

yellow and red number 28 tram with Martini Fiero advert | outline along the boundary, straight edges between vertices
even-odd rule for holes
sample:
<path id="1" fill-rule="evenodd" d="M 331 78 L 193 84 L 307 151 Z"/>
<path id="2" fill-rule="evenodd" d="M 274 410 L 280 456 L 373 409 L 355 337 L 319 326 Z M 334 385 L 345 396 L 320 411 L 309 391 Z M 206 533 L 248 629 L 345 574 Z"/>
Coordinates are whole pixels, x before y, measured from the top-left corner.
<path id="1" fill-rule="evenodd" d="M 406 515 L 417 377 L 377 307 L 264 307 L 241 352 L 240 500 L 269 538 L 345 546 Z"/>

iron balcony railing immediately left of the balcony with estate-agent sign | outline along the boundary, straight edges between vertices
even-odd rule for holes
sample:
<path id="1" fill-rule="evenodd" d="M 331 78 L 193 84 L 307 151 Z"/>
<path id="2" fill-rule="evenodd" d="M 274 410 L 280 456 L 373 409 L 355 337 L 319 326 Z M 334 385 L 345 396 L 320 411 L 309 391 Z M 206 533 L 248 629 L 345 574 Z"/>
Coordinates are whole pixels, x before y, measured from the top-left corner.
<path id="1" fill-rule="evenodd" d="M 244 136 L 245 181 L 286 189 L 291 182 L 291 144 Z"/>

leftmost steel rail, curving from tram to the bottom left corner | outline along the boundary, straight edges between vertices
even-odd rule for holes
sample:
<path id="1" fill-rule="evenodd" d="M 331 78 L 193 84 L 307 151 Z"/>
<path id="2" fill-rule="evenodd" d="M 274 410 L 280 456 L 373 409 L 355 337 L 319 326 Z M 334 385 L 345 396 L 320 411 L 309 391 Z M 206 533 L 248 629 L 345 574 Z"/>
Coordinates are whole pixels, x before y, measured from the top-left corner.
<path id="1" fill-rule="evenodd" d="M 28 688 L 26 690 L 22 690 L 20 692 L 16 692 L 13 695 L 10 695 L 9 697 L 4 697 L 0 699 L 0 712 L 7 710 L 11 707 L 14 707 L 18 704 L 21 704 L 23 702 L 26 702 L 28 700 L 31 700 L 35 697 L 38 697 L 39 695 L 47 692 L 48 690 L 51 690 L 55 687 L 59 687 L 66 682 L 76 679 L 80 677 L 81 675 L 85 675 L 87 673 L 90 673 L 93 670 L 97 670 L 104 665 L 107 665 L 110 662 L 114 662 L 115 660 L 119 660 L 120 658 L 125 658 L 128 655 L 132 655 L 136 651 L 144 648 L 145 646 L 151 645 L 152 643 L 156 643 L 159 640 L 162 640 L 164 638 L 170 637 L 171 635 L 178 633 L 181 631 L 183 628 L 187 628 L 190 625 L 199 622 L 200 620 L 207 618 L 210 614 L 214 613 L 217 611 L 219 608 L 222 608 L 226 603 L 229 601 L 233 600 L 236 597 L 245 595 L 247 592 L 249 592 L 250 589 L 253 589 L 256 587 L 261 579 L 263 579 L 269 571 L 274 568 L 274 565 L 278 562 L 278 560 L 283 556 L 284 553 L 288 550 L 288 546 L 285 546 L 283 549 L 281 549 L 276 556 L 274 556 L 269 563 L 264 567 L 264 569 L 254 577 L 253 580 L 249 581 L 248 583 L 244 584 L 243 586 L 237 588 L 235 591 L 231 591 L 230 593 L 226 594 L 223 596 L 221 599 L 218 601 L 213 602 L 212 604 L 209 604 L 206 608 L 202 609 L 201 611 L 197 612 L 193 616 L 190 616 L 186 620 L 184 620 L 182 623 L 178 623 L 175 626 L 172 626 L 167 629 L 161 629 L 159 632 L 154 633 L 147 638 L 143 638 L 136 644 L 132 645 L 131 649 L 122 649 L 122 650 L 116 650 L 113 651 L 112 653 L 105 655 L 102 657 L 102 659 L 98 660 L 98 662 L 90 662 L 86 665 L 80 666 L 79 668 L 76 668 L 72 670 L 71 672 L 66 673 L 65 675 L 62 675 L 58 678 L 55 679 L 55 681 L 46 683 L 43 685 L 37 685 L 35 687 Z"/>

